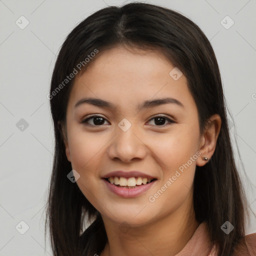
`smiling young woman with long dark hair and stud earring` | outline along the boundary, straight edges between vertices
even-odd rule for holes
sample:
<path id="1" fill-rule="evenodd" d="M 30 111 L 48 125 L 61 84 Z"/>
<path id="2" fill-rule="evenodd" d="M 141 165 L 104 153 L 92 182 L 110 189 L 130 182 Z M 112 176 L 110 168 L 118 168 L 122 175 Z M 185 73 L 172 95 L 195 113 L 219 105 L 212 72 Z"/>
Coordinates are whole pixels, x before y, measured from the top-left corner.
<path id="1" fill-rule="evenodd" d="M 146 3 L 94 12 L 48 98 L 54 255 L 255 255 L 217 61 L 191 20 Z"/>

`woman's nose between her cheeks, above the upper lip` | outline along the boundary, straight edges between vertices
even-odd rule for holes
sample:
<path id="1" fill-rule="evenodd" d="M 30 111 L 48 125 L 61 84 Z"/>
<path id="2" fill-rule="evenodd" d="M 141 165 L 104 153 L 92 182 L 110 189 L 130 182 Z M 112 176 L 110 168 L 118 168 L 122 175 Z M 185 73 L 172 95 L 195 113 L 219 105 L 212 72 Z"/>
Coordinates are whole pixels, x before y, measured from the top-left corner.
<path id="1" fill-rule="evenodd" d="M 131 125 L 126 131 L 117 126 L 107 152 L 111 159 L 128 163 L 134 158 L 143 159 L 146 155 L 146 145 L 135 125 Z"/>

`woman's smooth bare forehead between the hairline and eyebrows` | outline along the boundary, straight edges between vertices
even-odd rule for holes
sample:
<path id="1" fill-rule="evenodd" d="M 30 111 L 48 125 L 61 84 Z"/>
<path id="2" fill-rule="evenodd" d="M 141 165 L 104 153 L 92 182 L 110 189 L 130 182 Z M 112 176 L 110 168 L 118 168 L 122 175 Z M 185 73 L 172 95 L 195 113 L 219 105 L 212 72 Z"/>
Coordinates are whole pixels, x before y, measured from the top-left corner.
<path id="1" fill-rule="evenodd" d="M 117 46 L 99 52 L 82 74 L 75 76 L 70 104 L 84 96 L 98 97 L 126 107 L 160 97 L 193 104 L 184 75 L 174 80 L 175 66 L 160 51 L 128 50 Z"/>

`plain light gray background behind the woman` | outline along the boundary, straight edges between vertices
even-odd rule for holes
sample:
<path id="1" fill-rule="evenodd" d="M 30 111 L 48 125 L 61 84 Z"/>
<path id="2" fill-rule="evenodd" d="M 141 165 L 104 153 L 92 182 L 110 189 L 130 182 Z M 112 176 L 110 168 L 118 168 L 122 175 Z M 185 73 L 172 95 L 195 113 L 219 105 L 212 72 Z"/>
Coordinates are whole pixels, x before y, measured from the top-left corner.
<path id="1" fill-rule="evenodd" d="M 256 185 L 256 0 L 146 2 L 183 13 L 210 39 L 234 118 L 235 127 L 230 131 L 232 135 L 236 132 L 245 171 Z M 76 24 L 93 11 L 121 3 L 124 1 L 0 0 L 0 255 L 52 255 L 43 236 L 53 158 L 46 98 L 51 72 L 60 45 Z M 15 24 L 16 20 L 21 23 L 21 15 L 29 21 L 24 29 Z M 226 15 L 234 21 L 229 29 L 220 23 Z M 226 26 L 231 24 L 225 20 Z M 16 126 L 21 118 L 28 123 L 23 131 Z M 255 212 L 255 190 L 245 185 Z M 24 234 L 15 229 L 21 220 L 29 226 Z M 255 226 L 253 219 L 247 233 L 255 232 Z"/>

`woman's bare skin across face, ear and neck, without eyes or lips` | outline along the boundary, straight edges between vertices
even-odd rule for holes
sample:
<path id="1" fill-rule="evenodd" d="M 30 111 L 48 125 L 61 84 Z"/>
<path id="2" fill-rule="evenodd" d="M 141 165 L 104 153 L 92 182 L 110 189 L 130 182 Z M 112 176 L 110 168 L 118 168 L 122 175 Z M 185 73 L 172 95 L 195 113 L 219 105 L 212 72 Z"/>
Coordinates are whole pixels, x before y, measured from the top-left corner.
<path id="1" fill-rule="evenodd" d="M 98 53 L 100 54 L 100 52 Z M 174 80 L 169 72 L 173 64 L 158 51 L 136 50 L 123 46 L 107 49 L 75 76 L 67 105 L 63 128 L 65 152 L 80 177 L 77 185 L 84 196 L 101 213 L 108 242 L 100 254 L 171 256 L 191 238 L 199 223 L 192 207 L 195 166 L 207 163 L 214 152 L 221 126 L 218 114 L 211 125 L 199 134 L 196 104 L 188 91 L 184 75 Z M 164 98 L 173 103 L 137 110 L 144 100 Z M 110 101 L 115 109 L 84 103 L 83 97 Z M 88 120 L 99 114 L 102 125 Z M 158 124 L 155 116 L 165 116 Z M 126 118 L 131 127 L 123 131 L 118 123 Z M 95 119 L 94 119 L 95 120 Z M 165 121 L 165 122 L 164 122 Z M 92 126 L 94 125 L 94 126 Z M 154 195 L 175 174 L 178 167 L 200 152 L 178 178 L 153 202 Z M 123 198 L 106 187 L 102 176 L 114 170 L 138 170 L 157 177 L 157 181 L 136 198 Z M 125 221 L 125 223 L 123 223 Z M 122 224 L 121 224 L 122 223 Z M 126 226 L 123 231 L 119 225 Z"/>

